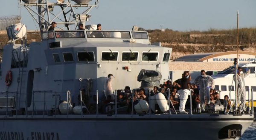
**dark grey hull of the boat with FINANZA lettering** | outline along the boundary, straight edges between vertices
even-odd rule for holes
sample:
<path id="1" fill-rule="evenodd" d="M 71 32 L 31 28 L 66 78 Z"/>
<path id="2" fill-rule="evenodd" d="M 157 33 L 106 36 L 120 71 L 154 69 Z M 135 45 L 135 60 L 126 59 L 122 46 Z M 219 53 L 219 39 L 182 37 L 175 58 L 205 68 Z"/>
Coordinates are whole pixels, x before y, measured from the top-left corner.
<path id="1" fill-rule="evenodd" d="M 243 134 L 253 116 L 57 115 L 1 120 L 0 140 L 218 140 L 220 130 L 229 125 L 241 125 Z"/>

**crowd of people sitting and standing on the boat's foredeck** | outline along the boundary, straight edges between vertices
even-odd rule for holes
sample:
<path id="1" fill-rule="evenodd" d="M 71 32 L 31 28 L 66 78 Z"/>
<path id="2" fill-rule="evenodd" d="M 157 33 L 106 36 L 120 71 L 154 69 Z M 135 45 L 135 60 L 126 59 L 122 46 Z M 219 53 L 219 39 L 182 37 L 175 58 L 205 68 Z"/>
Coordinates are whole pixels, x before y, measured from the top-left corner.
<path id="1" fill-rule="evenodd" d="M 184 71 L 181 78 L 174 82 L 168 80 L 164 84 L 160 84 L 159 87 L 154 86 L 153 89 L 138 88 L 131 90 L 129 86 L 126 86 L 124 90 L 117 90 L 116 95 L 111 85 L 113 78 L 114 76 L 109 74 L 105 81 L 105 96 L 102 101 L 99 101 L 98 105 L 99 111 L 102 113 L 114 110 L 116 103 L 118 104 L 117 107 L 127 107 L 126 112 L 131 113 L 132 102 L 133 104 L 136 104 L 139 100 L 149 102 L 149 96 L 163 94 L 166 101 L 170 101 L 172 112 L 177 111 L 180 114 L 188 114 L 190 111 L 190 100 L 188 100 L 190 99 L 190 92 L 192 96 L 192 112 L 195 112 L 198 108 L 201 109 L 201 112 L 207 112 L 206 106 L 224 106 L 224 109 L 228 112 L 231 107 L 228 95 L 225 95 L 224 99 L 219 98 L 219 92 L 214 89 L 214 79 L 206 75 L 204 70 L 201 70 L 201 75 L 196 77 L 193 83 L 190 82 L 192 77 L 189 71 Z M 96 100 L 96 95 L 93 95 L 93 102 L 87 104 L 90 113 L 96 112 Z M 163 113 L 160 111 L 159 106 L 156 106 L 156 109 L 157 113 Z M 136 113 L 135 110 L 134 113 Z"/>

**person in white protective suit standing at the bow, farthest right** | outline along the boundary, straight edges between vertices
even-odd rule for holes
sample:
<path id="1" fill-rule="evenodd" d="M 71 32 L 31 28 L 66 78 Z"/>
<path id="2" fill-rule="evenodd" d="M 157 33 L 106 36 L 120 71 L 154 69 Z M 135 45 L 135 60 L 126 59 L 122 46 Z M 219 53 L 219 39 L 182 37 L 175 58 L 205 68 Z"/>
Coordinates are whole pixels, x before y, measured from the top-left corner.
<path id="1" fill-rule="evenodd" d="M 246 69 L 246 72 L 243 73 L 243 70 L 241 67 L 237 68 L 237 84 L 238 84 L 238 96 L 241 101 L 241 108 L 244 110 L 246 109 L 245 105 L 245 82 L 244 78 L 249 76 L 250 74 L 250 69 Z M 233 76 L 234 81 L 236 82 L 236 74 Z"/>

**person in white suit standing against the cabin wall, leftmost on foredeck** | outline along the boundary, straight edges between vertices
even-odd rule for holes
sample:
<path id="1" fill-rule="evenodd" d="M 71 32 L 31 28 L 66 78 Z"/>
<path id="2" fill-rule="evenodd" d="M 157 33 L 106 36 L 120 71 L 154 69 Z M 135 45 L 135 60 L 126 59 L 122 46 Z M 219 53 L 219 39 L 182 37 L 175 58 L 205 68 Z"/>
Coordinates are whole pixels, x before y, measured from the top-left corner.
<path id="1" fill-rule="evenodd" d="M 111 84 L 111 81 L 113 80 L 113 78 L 114 78 L 113 74 L 108 74 L 108 78 L 106 78 L 106 81 L 104 84 L 106 99 L 109 95 L 111 96 L 111 100 L 115 99 L 114 91 L 113 91 L 112 84 Z"/>

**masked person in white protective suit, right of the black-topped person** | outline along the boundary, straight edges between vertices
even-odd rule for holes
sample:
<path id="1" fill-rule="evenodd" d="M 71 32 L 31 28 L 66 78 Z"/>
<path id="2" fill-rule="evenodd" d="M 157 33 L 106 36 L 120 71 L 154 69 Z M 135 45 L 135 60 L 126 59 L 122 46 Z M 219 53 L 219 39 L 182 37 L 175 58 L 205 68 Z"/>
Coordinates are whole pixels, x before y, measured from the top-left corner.
<path id="1" fill-rule="evenodd" d="M 201 76 L 195 78 L 195 83 L 199 86 L 200 106 L 201 111 L 205 111 L 205 99 L 206 104 L 210 104 L 210 89 L 214 89 L 214 79 L 211 76 L 205 74 L 204 70 L 201 70 Z"/>

